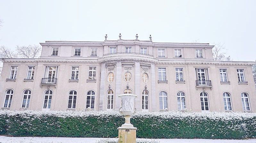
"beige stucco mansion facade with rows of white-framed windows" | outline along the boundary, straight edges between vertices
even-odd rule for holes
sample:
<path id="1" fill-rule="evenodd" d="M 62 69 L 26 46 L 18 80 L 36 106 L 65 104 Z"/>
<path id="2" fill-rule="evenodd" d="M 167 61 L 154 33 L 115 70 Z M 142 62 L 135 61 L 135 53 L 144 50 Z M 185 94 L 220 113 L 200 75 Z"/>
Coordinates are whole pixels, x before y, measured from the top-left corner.
<path id="1" fill-rule="evenodd" d="M 119 110 L 121 101 L 118 95 L 128 89 L 138 96 L 135 101 L 137 111 L 256 111 L 256 90 L 251 68 L 255 63 L 213 61 L 213 46 L 209 44 L 123 39 L 104 42 L 46 41 L 40 44 L 43 48 L 39 59 L 2 59 L 2 110 L 86 111 L 87 106 L 95 111 Z M 80 52 L 77 52 L 79 49 Z M 12 70 L 15 67 L 16 71 Z M 29 67 L 34 67 L 32 79 L 31 76 L 28 79 Z M 52 67 L 55 67 L 54 71 L 49 71 Z M 78 67 L 75 71 L 78 76 L 73 79 L 72 67 Z M 221 76 L 220 69 L 225 70 L 225 77 Z M 182 70 L 178 73 L 178 79 L 176 70 Z M 130 75 L 125 76 L 127 72 Z M 110 73 L 113 73 L 112 77 Z M 7 99 L 9 89 L 13 93 L 10 92 L 12 97 Z M 30 90 L 30 97 L 24 97 L 25 90 Z M 51 90 L 52 94 L 47 94 L 45 100 L 47 90 Z M 70 91 L 76 91 L 72 99 L 69 99 Z M 182 93 L 179 94 L 182 96 L 178 98 L 177 93 Z M 224 93 L 229 95 L 226 102 Z M 244 103 L 242 93 L 247 96 L 243 98 Z M 87 94 L 94 96 L 94 103 L 93 97 L 88 99 Z M 225 110 L 225 103 L 231 107 Z M 244 107 L 244 110 L 243 104 L 249 105 L 249 108 Z"/>

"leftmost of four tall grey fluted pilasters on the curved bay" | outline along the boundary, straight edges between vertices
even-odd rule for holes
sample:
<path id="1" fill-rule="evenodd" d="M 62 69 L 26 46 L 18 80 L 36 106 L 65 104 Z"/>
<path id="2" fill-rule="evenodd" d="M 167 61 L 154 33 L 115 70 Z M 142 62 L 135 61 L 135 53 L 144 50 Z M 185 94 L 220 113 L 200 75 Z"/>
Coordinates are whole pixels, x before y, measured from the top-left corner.
<path id="1" fill-rule="evenodd" d="M 106 79 L 106 70 L 105 70 L 105 64 L 101 64 L 101 81 L 100 81 L 100 99 L 99 99 L 99 111 L 103 111 L 103 102 L 104 102 L 104 84 Z"/>

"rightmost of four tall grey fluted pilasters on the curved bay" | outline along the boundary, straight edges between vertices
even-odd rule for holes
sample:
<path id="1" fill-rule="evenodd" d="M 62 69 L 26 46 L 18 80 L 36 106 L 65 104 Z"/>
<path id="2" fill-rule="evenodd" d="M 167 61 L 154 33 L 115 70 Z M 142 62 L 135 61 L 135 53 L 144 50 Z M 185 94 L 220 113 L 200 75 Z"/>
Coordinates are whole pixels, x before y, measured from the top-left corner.
<path id="1" fill-rule="evenodd" d="M 156 108 L 156 102 L 158 101 L 158 100 L 156 100 L 156 99 L 158 99 L 158 97 L 156 97 L 156 96 L 158 96 L 158 94 L 156 94 L 156 91 L 155 91 L 155 64 L 154 63 L 152 63 L 151 64 L 151 96 L 149 96 L 149 97 L 151 97 L 151 104 L 152 104 L 152 111 L 158 111 L 157 110 L 157 108 Z"/>

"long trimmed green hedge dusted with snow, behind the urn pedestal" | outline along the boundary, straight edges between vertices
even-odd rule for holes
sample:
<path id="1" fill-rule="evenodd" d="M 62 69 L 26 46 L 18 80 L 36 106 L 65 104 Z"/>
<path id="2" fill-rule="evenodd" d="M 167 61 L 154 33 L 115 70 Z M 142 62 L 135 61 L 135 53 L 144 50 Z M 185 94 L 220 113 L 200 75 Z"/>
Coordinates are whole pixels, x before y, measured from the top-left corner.
<path id="1" fill-rule="evenodd" d="M 117 137 L 116 111 L 0 111 L 0 134 L 48 137 Z M 255 113 L 137 112 L 138 138 L 243 139 L 256 137 Z"/>

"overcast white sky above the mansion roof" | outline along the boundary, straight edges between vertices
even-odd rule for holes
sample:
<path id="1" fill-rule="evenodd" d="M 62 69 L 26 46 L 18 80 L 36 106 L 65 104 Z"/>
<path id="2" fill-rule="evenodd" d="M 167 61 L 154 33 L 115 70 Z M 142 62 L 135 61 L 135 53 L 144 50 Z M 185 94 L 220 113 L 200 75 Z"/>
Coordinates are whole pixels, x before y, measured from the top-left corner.
<path id="1" fill-rule="evenodd" d="M 1 0 L 0 46 L 47 40 L 224 43 L 234 61 L 256 60 L 256 1 Z"/>

